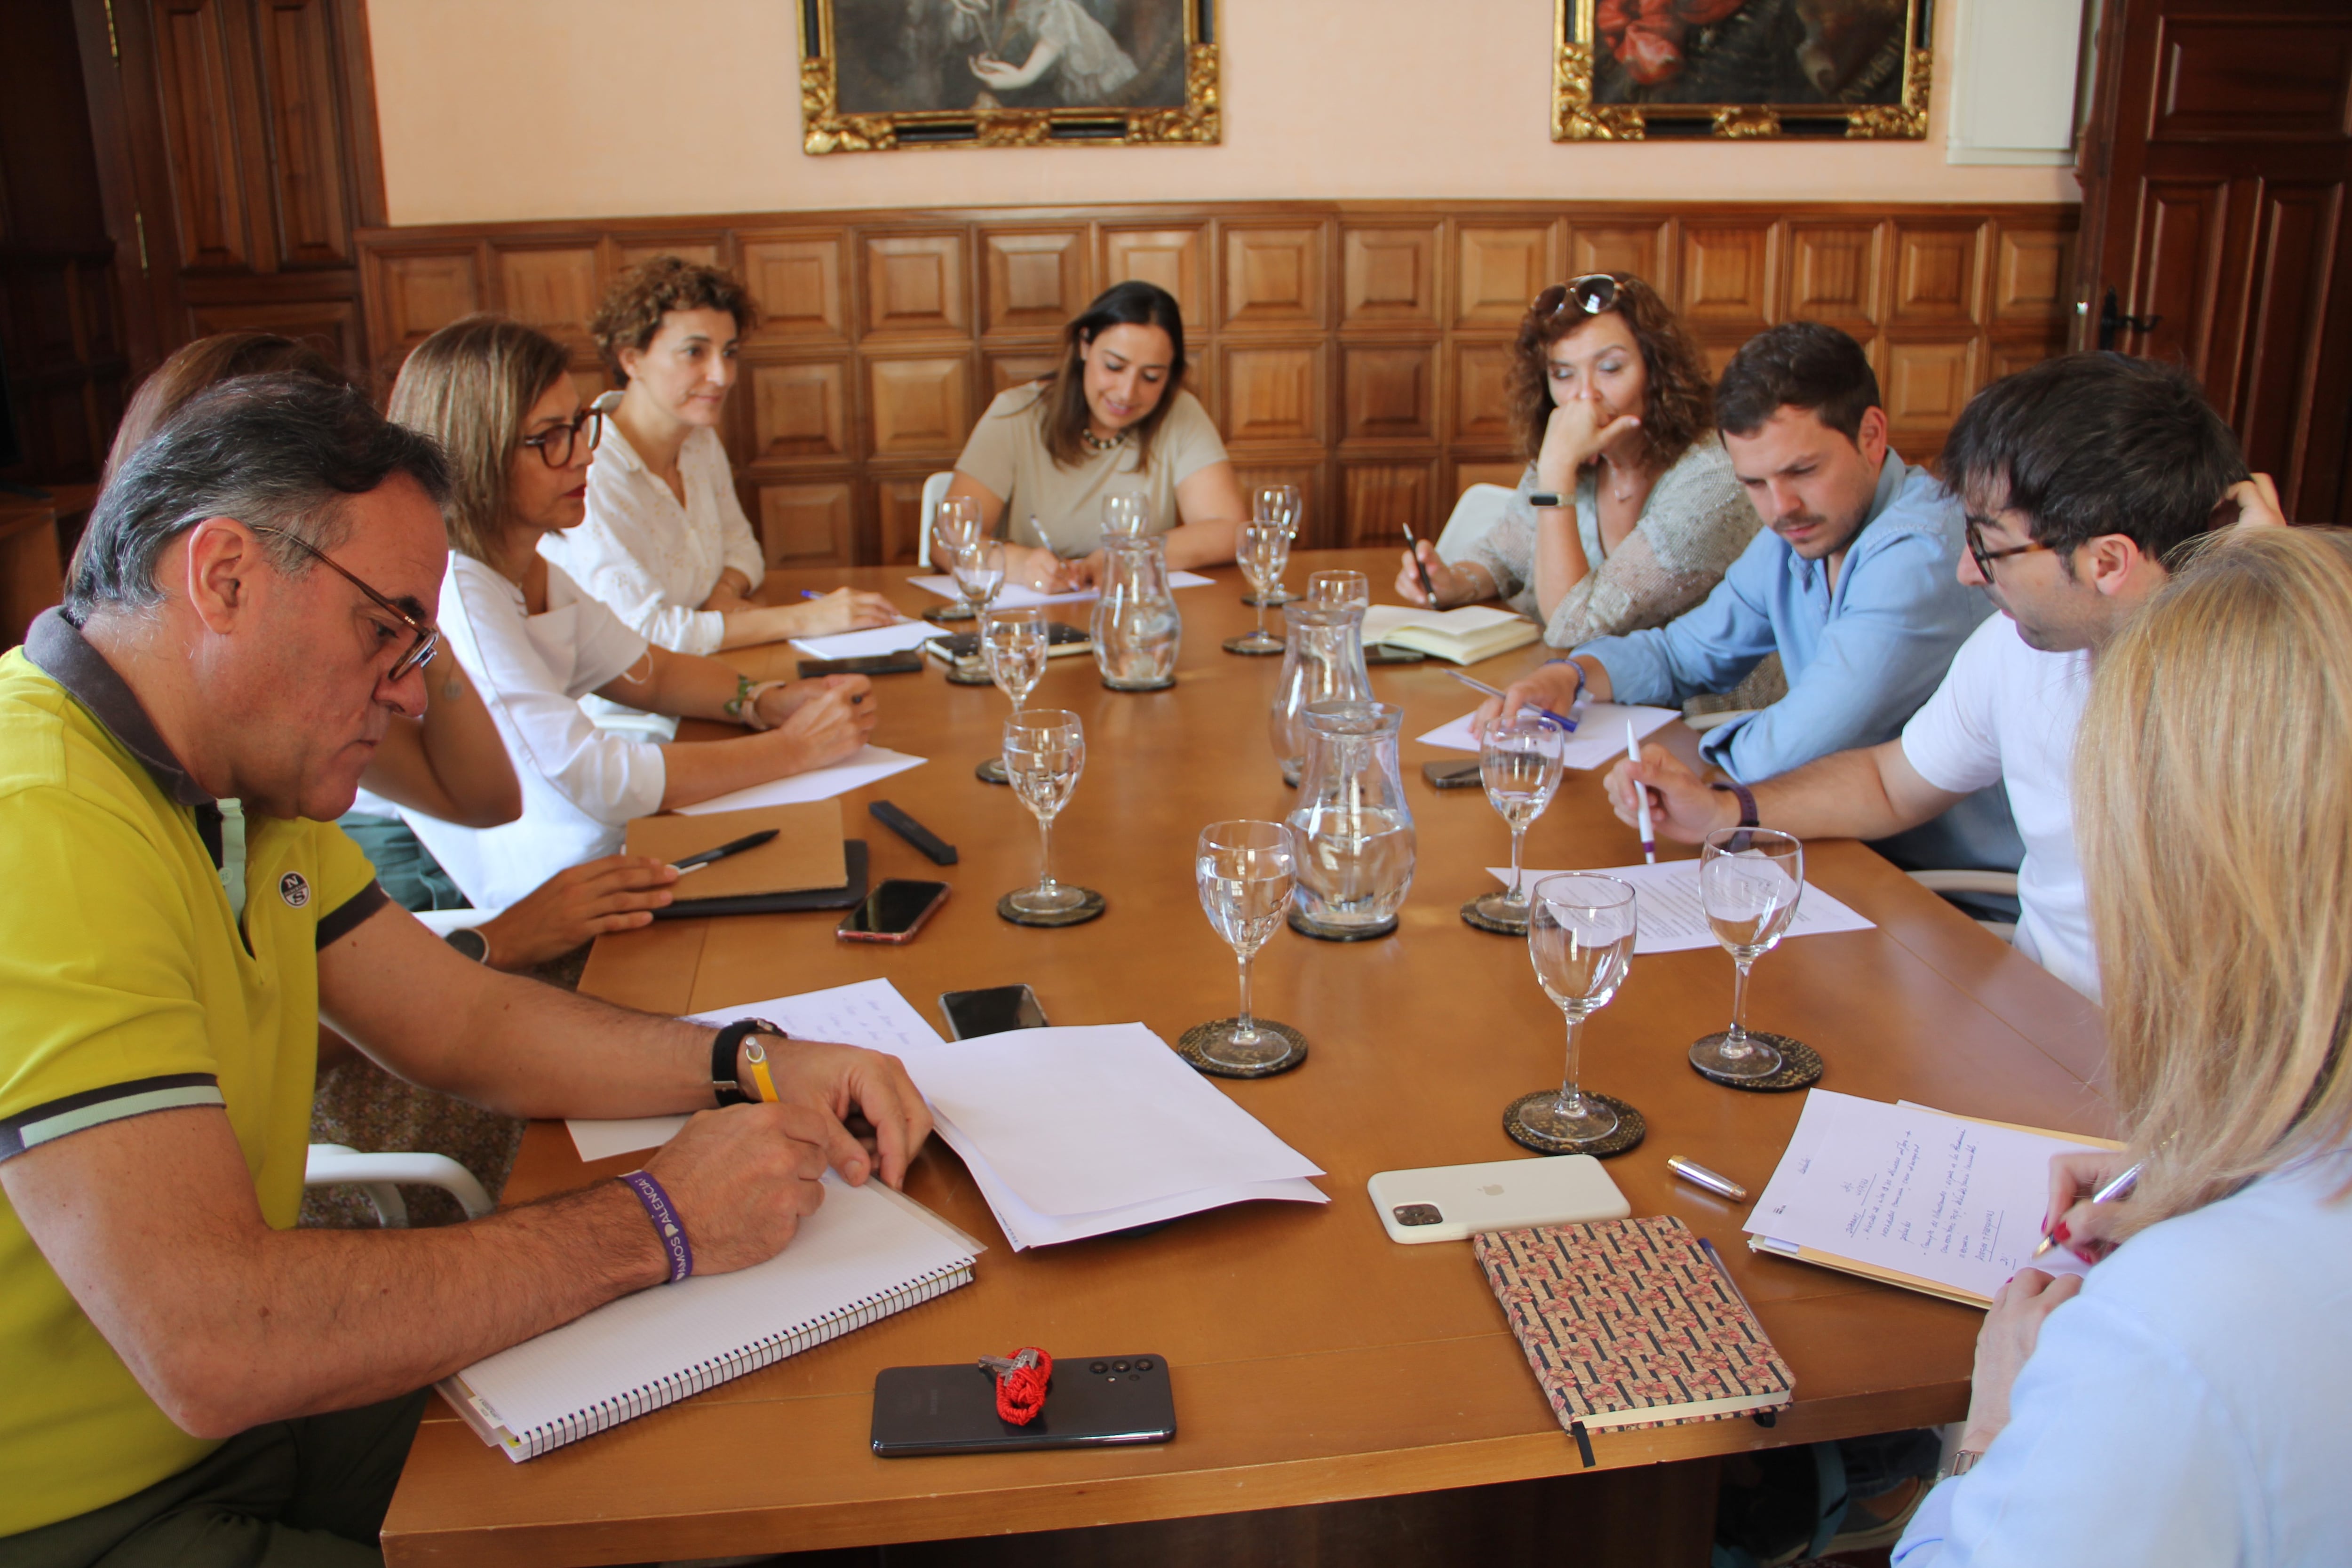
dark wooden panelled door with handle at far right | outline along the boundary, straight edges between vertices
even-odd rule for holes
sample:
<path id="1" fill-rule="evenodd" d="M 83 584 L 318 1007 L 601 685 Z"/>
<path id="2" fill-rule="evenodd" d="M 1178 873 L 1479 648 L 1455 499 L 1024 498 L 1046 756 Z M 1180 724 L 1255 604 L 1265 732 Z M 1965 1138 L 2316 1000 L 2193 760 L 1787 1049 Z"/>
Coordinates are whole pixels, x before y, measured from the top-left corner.
<path id="1" fill-rule="evenodd" d="M 2352 522 L 2352 9 L 2110 0 L 2077 343 L 2187 364 L 2296 522 Z"/>

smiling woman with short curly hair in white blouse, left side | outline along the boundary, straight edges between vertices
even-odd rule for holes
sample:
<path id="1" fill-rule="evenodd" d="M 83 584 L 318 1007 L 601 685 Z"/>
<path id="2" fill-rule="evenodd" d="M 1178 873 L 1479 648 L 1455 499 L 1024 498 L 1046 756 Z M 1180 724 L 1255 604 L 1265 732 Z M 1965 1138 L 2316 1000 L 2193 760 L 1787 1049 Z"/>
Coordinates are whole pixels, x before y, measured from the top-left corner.
<path id="1" fill-rule="evenodd" d="M 837 588 L 757 604 L 767 557 L 736 498 L 720 418 L 750 294 L 713 266 L 656 256 L 614 282 L 588 331 L 621 383 L 588 468 L 588 517 L 539 550 L 673 654 L 816 637 L 898 618 L 889 599 Z"/>

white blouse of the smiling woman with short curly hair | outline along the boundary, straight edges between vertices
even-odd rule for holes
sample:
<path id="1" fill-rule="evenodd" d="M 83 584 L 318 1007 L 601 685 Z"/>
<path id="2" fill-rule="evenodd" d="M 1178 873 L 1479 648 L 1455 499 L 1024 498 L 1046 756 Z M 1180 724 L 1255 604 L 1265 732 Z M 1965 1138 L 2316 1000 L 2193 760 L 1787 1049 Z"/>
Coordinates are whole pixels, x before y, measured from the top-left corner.
<path id="1" fill-rule="evenodd" d="M 757 588 L 767 555 L 734 491 L 717 430 L 677 451 L 687 503 L 644 465 L 621 425 L 604 421 L 588 465 L 588 520 L 546 534 L 539 552 L 604 599 L 623 623 L 673 654 L 717 654 L 727 616 L 696 609 L 729 567 Z"/>

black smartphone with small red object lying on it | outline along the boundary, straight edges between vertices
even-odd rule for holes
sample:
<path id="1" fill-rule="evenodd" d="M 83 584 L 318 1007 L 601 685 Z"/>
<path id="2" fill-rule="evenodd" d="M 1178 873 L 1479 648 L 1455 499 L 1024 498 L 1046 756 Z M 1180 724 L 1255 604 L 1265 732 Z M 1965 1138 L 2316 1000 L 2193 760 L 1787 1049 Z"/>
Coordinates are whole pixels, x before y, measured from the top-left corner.
<path id="1" fill-rule="evenodd" d="M 873 1450 L 884 1460 L 1167 1443 L 1174 1436 L 1176 1396 L 1162 1356 L 1054 1356 L 1044 1408 L 1025 1427 L 997 1415 L 997 1378 L 974 1361 L 887 1366 L 875 1375 Z"/>

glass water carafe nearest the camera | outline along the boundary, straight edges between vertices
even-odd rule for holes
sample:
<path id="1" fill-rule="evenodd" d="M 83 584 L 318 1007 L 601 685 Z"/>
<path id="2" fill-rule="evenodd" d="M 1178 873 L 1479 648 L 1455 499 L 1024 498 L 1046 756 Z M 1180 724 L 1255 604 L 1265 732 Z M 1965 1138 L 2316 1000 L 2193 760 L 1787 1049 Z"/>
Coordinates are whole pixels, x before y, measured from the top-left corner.
<path id="1" fill-rule="evenodd" d="M 1308 757 L 1289 825 L 1298 839 L 1291 926 L 1308 936 L 1355 940 L 1397 929 L 1414 886 L 1414 809 L 1397 771 L 1402 724 L 1404 710 L 1390 703 L 1305 710 Z"/>

